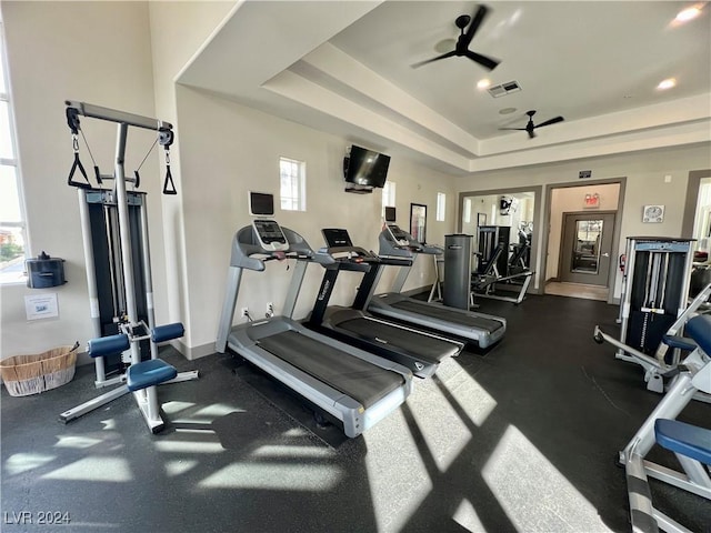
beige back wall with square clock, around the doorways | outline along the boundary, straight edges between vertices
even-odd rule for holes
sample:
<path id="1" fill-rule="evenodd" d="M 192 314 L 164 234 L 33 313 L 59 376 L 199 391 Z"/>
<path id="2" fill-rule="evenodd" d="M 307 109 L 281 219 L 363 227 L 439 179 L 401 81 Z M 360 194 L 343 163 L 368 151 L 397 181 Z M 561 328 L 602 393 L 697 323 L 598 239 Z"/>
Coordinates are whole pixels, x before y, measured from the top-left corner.
<path id="1" fill-rule="evenodd" d="M 702 143 L 679 148 L 658 149 L 627 154 L 582 159 L 572 162 L 541 164 L 522 169 L 488 171 L 472 177 L 454 179 L 458 191 L 487 191 L 528 185 L 558 183 L 582 184 L 580 170 L 591 170 L 593 179 L 627 177 L 621 242 L 617 254 L 624 253 L 625 238 L 630 235 L 680 237 L 689 172 L 708 169 L 711 164 L 711 144 Z M 665 182 L 664 177 L 671 181 Z M 548 202 L 544 191 L 542 209 Z M 648 204 L 665 205 L 664 222 L 642 223 L 642 209 Z M 542 231 L 534 228 L 533 239 Z M 539 241 L 540 242 L 540 241 Z M 540 272 L 543 250 L 539 249 L 535 270 Z M 615 296 L 620 294 L 621 276 L 615 283 Z"/>

